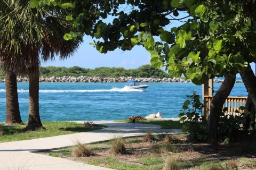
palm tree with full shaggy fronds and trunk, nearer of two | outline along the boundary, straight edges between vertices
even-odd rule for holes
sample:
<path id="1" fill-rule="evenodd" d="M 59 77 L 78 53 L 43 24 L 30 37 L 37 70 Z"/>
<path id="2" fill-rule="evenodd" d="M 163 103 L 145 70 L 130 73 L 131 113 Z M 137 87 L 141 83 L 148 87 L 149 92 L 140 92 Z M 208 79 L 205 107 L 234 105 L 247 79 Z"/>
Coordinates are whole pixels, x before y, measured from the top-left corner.
<path id="1" fill-rule="evenodd" d="M 35 130 L 42 127 L 38 101 L 40 61 L 54 60 L 56 55 L 65 59 L 75 52 L 82 40 L 63 39 L 63 35 L 71 29 L 71 25 L 65 21 L 66 10 L 32 9 L 28 1 L 6 0 L 3 3 L 11 8 L 11 12 L 0 19 L 0 32 L 3 32 L 0 37 L 1 63 L 5 70 L 29 75 L 29 115 L 26 129 Z M 10 20 L 10 16 L 14 19 Z M 5 48 L 4 44 L 9 44 L 10 48 Z M 18 49 L 12 48 L 12 44 Z"/>

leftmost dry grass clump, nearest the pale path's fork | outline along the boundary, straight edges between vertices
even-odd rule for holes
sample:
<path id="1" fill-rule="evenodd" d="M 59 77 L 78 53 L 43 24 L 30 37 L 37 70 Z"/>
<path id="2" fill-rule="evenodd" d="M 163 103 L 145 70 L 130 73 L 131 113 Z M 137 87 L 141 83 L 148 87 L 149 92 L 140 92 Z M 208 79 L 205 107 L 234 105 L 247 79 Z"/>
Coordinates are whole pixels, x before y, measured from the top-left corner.
<path id="1" fill-rule="evenodd" d="M 77 142 L 76 146 L 73 148 L 72 156 L 79 157 L 89 157 L 94 155 L 91 147 L 89 145 L 84 145 L 81 142 Z"/>

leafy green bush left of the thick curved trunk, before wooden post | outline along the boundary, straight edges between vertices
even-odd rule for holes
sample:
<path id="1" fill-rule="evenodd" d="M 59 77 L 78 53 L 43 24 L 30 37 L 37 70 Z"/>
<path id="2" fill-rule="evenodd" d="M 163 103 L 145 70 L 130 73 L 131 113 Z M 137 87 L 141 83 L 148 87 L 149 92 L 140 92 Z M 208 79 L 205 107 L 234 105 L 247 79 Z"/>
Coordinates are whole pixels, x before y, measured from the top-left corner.
<path id="1" fill-rule="evenodd" d="M 188 140 L 190 141 L 205 141 L 207 139 L 207 122 L 205 117 L 201 116 L 204 105 L 201 103 L 199 95 L 196 95 L 196 91 L 187 97 L 190 99 L 184 102 L 179 114 L 180 123 L 186 123 L 182 126 L 182 130 L 189 132 Z"/>

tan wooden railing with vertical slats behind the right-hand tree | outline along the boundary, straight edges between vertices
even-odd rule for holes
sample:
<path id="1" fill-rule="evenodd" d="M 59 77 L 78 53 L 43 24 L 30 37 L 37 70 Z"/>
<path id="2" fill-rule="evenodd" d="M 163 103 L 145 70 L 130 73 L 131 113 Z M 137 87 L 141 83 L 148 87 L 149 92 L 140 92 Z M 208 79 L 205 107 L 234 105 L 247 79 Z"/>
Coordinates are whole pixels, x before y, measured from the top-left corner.
<path id="1" fill-rule="evenodd" d="M 204 115 L 208 119 L 209 113 L 210 113 L 210 105 L 212 101 L 213 96 L 204 96 L 204 101 L 206 101 L 204 105 Z M 225 112 L 225 115 L 239 115 L 240 113 L 236 113 L 236 110 L 239 110 L 240 106 L 245 106 L 247 97 L 228 97 L 225 101 L 224 107 L 227 107 L 228 110 Z"/>

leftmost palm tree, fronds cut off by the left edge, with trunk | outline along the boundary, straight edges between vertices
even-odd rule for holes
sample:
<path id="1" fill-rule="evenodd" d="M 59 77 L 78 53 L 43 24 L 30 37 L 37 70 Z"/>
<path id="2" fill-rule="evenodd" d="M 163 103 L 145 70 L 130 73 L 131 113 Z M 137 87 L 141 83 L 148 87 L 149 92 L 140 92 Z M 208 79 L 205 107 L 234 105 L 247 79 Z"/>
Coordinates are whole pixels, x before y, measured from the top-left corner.
<path id="1" fill-rule="evenodd" d="M 14 5 L 14 4 L 13 4 Z M 17 55 L 20 51 L 20 46 L 18 44 L 15 44 L 15 40 L 17 40 L 18 34 L 15 34 L 16 31 L 14 31 L 14 25 L 12 22 L 12 19 L 10 20 L 9 30 L 13 30 L 13 32 L 10 31 L 9 35 L 3 34 L 3 18 L 7 13 L 11 13 L 13 11 L 13 8 L 8 7 L 7 4 L 4 1 L 0 1 L 0 27 L 1 29 L 1 35 L 0 35 L 0 58 L 2 56 L 6 56 L 8 58 L 11 58 L 11 55 Z M 11 15 L 9 15 L 11 16 Z M 18 16 L 13 13 L 12 16 Z M 6 41 L 2 41 L 5 39 Z M 8 42 L 7 42 L 8 41 Z M 9 50 L 12 53 L 6 51 L 6 47 L 10 48 Z M 15 50 L 14 50 L 15 47 Z M 9 60 L 10 65 L 14 64 L 12 60 Z M 0 62 L 0 64 L 3 66 L 3 63 Z M 14 66 L 14 65 L 13 65 Z M 13 124 L 21 124 L 21 116 L 20 116 L 20 110 L 19 110 L 19 102 L 18 102 L 18 92 L 17 92 L 17 77 L 13 70 L 6 69 L 3 72 L 5 72 L 5 89 L 6 89 L 6 125 L 13 125 Z"/>

